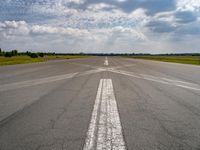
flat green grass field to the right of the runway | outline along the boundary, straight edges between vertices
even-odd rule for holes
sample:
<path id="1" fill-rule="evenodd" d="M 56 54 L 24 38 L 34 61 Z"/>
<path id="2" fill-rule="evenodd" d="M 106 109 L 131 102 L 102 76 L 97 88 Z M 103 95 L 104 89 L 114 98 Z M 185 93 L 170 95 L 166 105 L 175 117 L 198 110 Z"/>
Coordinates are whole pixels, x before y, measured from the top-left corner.
<path id="1" fill-rule="evenodd" d="M 129 58 L 200 65 L 200 56 L 129 56 Z"/>

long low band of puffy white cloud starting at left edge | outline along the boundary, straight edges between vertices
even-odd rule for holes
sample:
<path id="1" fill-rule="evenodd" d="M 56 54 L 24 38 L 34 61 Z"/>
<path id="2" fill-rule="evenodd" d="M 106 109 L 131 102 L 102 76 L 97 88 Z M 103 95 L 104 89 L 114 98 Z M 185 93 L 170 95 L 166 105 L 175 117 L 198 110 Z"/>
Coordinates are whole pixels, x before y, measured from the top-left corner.
<path id="1" fill-rule="evenodd" d="M 118 36 L 124 36 L 127 34 L 132 34 L 136 39 L 144 39 L 144 35 L 134 29 L 124 28 L 121 26 L 113 28 L 102 28 L 102 29 L 79 29 L 79 28 L 69 28 L 69 27 L 52 27 L 45 25 L 29 25 L 25 21 L 5 21 L 0 22 L 0 33 L 4 36 L 22 36 L 22 35 L 60 35 L 60 36 L 70 36 L 74 38 L 84 37 L 85 39 L 99 37 L 99 35 L 106 35 L 107 37 L 117 34 Z M 119 36 L 119 37 L 120 37 Z M 100 36 L 101 37 L 101 36 Z"/>

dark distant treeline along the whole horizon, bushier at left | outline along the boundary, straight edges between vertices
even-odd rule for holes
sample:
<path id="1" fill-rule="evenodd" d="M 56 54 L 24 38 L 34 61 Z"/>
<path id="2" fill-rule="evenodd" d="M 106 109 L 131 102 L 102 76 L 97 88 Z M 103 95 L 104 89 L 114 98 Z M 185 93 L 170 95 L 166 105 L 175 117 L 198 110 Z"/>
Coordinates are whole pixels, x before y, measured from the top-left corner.
<path id="1" fill-rule="evenodd" d="M 30 56 L 31 58 L 52 56 L 52 55 L 87 55 L 87 56 L 200 56 L 200 53 L 169 53 L 169 54 L 148 54 L 148 53 L 55 53 L 55 52 L 19 52 L 18 50 L 3 51 L 0 48 L 0 56 L 12 57 L 12 56 Z"/>

